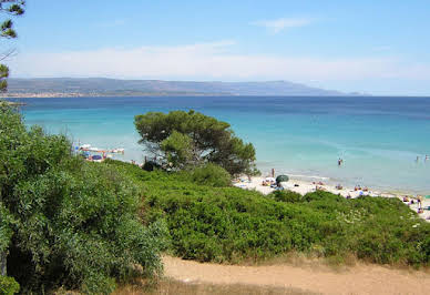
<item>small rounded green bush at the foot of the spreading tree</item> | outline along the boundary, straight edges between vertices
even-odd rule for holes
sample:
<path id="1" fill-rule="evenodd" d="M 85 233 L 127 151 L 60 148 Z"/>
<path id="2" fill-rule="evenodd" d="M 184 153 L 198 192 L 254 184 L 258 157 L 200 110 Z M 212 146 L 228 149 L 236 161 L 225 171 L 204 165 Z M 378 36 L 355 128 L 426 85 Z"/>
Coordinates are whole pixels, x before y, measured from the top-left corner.
<path id="1" fill-rule="evenodd" d="M 229 173 L 222 166 L 213 163 L 195 167 L 190 174 L 193 182 L 201 185 L 222 187 L 229 186 L 232 183 Z"/>

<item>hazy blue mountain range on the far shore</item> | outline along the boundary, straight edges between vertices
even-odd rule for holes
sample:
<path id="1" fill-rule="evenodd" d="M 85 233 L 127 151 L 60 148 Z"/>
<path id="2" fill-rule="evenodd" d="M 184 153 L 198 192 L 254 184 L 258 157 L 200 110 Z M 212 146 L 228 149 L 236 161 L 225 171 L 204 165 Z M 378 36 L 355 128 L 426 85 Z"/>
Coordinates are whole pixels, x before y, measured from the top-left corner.
<path id="1" fill-rule="evenodd" d="M 9 79 L 7 96 L 111 96 L 111 95 L 357 95 L 311 88 L 288 81 L 192 82 L 117 80 L 106 78 Z"/>

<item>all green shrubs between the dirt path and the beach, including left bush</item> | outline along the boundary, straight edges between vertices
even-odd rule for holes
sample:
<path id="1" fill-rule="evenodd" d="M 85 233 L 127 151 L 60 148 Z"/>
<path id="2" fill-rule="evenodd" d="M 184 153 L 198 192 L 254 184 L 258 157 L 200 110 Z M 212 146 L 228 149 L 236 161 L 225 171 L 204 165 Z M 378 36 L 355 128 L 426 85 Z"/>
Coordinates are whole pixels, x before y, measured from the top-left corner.
<path id="1" fill-rule="evenodd" d="M 62 135 L 25 129 L 0 104 L 0 291 L 64 286 L 110 293 L 161 274 L 160 253 L 202 262 L 259 261 L 300 252 L 341 262 L 430 262 L 430 224 L 397 199 L 231 186 L 214 163 L 163 172 L 74 156 Z M 170 241 L 166 241 L 167 238 Z M 19 285 L 17 284 L 19 283 Z"/>

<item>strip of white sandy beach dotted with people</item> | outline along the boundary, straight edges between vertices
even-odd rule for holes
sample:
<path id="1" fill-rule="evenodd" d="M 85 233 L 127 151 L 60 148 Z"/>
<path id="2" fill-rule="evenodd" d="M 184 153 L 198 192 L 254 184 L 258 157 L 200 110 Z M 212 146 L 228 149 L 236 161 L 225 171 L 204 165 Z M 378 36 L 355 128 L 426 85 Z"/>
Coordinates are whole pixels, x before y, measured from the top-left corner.
<path id="1" fill-rule="evenodd" d="M 249 181 L 247 177 L 240 177 L 239 180 L 235 181 L 233 184 L 244 190 L 255 190 L 263 194 L 269 194 L 276 190 L 268 185 L 263 185 L 263 183 L 269 179 L 270 176 L 256 176 L 256 177 L 250 177 L 250 181 Z M 381 192 L 366 186 L 362 186 L 361 190 L 355 190 L 356 187 L 346 187 L 346 186 L 342 186 L 339 190 L 339 187 L 336 187 L 336 186 L 337 184 L 332 184 L 326 181 L 319 181 L 319 180 L 305 181 L 305 180 L 295 179 L 295 177 L 290 177 L 288 182 L 283 183 L 284 190 L 289 190 L 289 191 L 299 193 L 301 195 L 315 192 L 316 189 L 318 187 L 318 190 L 324 190 L 324 191 L 338 194 L 344 197 L 350 197 L 350 199 L 356 199 L 356 197 L 359 197 L 360 195 L 369 195 L 372 197 L 398 197 L 400 201 L 403 202 L 403 197 L 408 196 L 409 201 L 413 200 L 413 204 L 410 204 L 409 202 L 403 202 L 403 204 L 409 205 L 409 207 L 412 211 L 418 212 L 418 202 L 417 202 L 416 195 L 406 194 L 406 193 Z M 426 220 L 427 222 L 430 222 L 430 210 L 429 210 L 430 200 L 429 199 L 422 200 L 422 207 L 424 210 L 422 213 L 419 214 L 419 216 Z"/>

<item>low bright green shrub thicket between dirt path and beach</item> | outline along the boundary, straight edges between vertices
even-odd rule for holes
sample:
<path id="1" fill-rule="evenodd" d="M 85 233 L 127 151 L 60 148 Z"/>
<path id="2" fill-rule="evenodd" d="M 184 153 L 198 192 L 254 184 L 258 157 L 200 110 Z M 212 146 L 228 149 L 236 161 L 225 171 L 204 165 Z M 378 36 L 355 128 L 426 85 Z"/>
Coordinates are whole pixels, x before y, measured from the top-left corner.
<path id="1" fill-rule="evenodd" d="M 140 183 L 146 222 L 166 221 L 171 251 L 184 258 L 239 262 L 303 252 L 339 262 L 350 255 L 380 264 L 430 261 L 430 224 L 397 199 L 346 200 L 326 192 L 264 196 L 202 185 L 187 173 L 109 165 L 122 166 Z"/>

